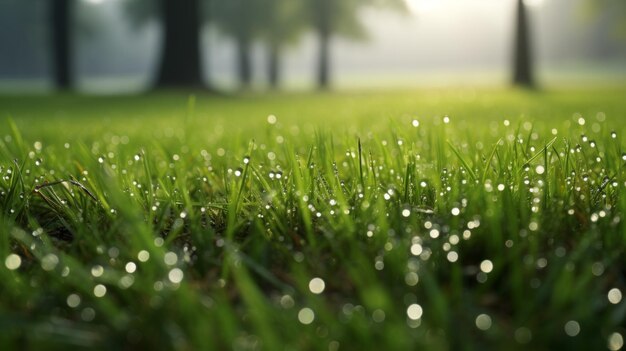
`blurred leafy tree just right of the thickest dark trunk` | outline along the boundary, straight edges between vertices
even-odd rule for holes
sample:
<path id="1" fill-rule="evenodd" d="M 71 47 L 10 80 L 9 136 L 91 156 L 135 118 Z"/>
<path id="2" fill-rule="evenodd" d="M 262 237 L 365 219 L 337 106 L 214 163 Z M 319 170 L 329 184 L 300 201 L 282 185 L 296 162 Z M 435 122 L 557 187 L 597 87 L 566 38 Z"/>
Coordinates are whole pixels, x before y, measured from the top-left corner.
<path id="1" fill-rule="evenodd" d="M 213 20 L 237 45 L 237 76 L 240 87 L 252 82 L 252 43 L 262 32 L 269 10 L 267 0 L 214 0 Z"/>

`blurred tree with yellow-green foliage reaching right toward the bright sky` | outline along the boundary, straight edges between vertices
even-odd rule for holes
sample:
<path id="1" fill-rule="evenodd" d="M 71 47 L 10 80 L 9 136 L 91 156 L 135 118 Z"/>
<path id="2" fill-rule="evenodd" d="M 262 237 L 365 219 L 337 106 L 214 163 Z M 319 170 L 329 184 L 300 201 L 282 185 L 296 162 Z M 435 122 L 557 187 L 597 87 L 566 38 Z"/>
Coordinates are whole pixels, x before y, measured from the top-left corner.
<path id="1" fill-rule="evenodd" d="M 320 89 L 330 85 L 330 41 L 334 35 L 364 39 L 367 31 L 358 16 L 359 8 L 389 6 L 406 10 L 404 0 L 305 0 L 309 22 L 318 37 L 317 84 Z"/>

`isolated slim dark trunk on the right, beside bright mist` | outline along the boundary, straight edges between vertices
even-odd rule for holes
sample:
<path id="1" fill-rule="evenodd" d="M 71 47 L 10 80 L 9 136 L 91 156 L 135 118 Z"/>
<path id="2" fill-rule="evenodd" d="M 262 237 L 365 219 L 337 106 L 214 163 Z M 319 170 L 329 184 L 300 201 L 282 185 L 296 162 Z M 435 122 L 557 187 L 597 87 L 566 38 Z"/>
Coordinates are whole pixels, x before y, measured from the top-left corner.
<path id="1" fill-rule="evenodd" d="M 533 87 L 535 85 L 533 79 L 528 14 L 523 0 L 517 1 L 513 84 L 524 87 Z"/>

